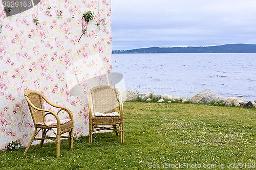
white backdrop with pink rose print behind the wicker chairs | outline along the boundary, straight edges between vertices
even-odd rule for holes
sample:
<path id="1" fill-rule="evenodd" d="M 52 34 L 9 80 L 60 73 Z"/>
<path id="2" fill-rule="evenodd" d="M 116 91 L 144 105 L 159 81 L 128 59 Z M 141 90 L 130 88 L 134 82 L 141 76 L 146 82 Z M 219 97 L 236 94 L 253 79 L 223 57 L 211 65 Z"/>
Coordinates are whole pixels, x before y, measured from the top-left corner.
<path id="1" fill-rule="evenodd" d="M 98 26 L 90 21 L 78 41 L 86 11 L 94 12 Z M 100 75 L 112 70 L 111 1 L 41 0 L 9 17 L 1 4 L 0 25 L 0 149 L 15 140 L 27 146 L 31 139 L 34 125 L 24 98 L 28 89 L 72 111 L 74 137 L 88 135 L 87 93 L 107 84 Z M 78 90 L 77 95 L 70 90 Z"/>

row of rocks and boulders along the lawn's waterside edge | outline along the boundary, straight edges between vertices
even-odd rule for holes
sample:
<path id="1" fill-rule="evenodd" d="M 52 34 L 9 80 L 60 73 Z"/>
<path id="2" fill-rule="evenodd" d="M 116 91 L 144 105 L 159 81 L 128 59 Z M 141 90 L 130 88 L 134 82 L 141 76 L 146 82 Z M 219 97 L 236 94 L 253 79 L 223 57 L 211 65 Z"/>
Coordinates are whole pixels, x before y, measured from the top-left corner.
<path id="1" fill-rule="evenodd" d="M 210 89 L 203 90 L 194 95 L 191 99 L 182 99 L 180 97 L 173 98 L 172 95 L 154 95 L 153 92 L 147 92 L 146 94 L 138 94 L 130 89 L 126 89 L 121 92 L 122 101 L 141 101 L 141 102 L 158 102 L 158 103 L 213 103 L 218 106 L 235 106 L 235 107 L 247 107 L 256 108 L 256 99 L 254 101 L 247 101 L 245 99 L 238 99 L 236 97 L 230 97 L 223 99 L 222 96 Z"/>

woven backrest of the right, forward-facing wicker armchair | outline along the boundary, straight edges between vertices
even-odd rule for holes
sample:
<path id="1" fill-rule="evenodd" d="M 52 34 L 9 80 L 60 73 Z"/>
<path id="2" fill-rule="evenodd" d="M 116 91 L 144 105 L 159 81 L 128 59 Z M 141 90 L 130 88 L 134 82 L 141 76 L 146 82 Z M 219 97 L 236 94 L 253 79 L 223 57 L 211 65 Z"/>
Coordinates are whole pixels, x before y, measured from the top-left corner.
<path id="1" fill-rule="evenodd" d="M 118 90 L 112 86 L 97 86 L 90 90 L 92 94 L 93 112 L 115 112 Z"/>

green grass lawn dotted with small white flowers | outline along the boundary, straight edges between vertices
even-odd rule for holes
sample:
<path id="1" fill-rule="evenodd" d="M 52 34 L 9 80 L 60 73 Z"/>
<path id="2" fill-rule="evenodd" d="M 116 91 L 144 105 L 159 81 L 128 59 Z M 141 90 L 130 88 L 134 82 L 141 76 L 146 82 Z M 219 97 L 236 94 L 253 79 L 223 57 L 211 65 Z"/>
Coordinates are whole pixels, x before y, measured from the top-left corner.
<path id="1" fill-rule="evenodd" d="M 248 108 L 126 102 L 124 143 L 108 132 L 93 134 L 92 144 L 74 139 L 73 151 L 62 140 L 58 158 L 53 142 L 27 154 L 1 151 L 0 169 L 252 169 L 255 116 Z"/>

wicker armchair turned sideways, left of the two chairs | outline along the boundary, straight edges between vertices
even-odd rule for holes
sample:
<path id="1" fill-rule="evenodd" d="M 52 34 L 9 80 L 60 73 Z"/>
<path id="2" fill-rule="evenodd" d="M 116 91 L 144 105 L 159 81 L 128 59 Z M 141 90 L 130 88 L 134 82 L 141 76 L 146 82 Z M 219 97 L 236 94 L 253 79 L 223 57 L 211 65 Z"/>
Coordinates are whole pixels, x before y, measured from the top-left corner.
<path id="1" fill-rule="evenodd" d="M 56 154 L 58 157 L 59 147 L 60 147 L 60 138 L 69 138 L 69 148 L 72 150 L 73 149 L 73 128 L 74 128 L 72 112 L 65 107 L 57 106 L 51 103 L 48 99 L 46 99 L 44 95 L 42 95 L 40 92 L 36 90 L 27 90 L 25 92 L 25 99 L 28 102 L 30 113 L 34 122 L 35 131 L 24 153 L 27 153 L 27 151 L 30 148 L 30 145 L 34 140 L 41 140 L 40 147 L 42 147 L 42 144 L 44 143 L 45 139 L 51 139 L 57 143 Z M 42 99 L 44 99 L 51 106 L 59 108 L 60 110 L 57 113 L 51 110 L 45 110 Z M 58 116 L 58 113 L 60 111 L 66 111 L 69 114 L 69 119 L 60 120 Z M 49 114 L 53 115 L 56 118 L 56 120 L 55 121 L 46 120 L 46 115 L 49 115 Z M 57 129 L 57 133 L 53 129 Z M 47 132 L 50 130 L 55 134 L 54 137 L 46 135 Z M 36 135 L 38 134 L 39 131 L 42 131 L 42 137 L 36 138 Z M 66 133 L 66 132 L 69 132 L 69 135 L 61 136 L 63 133 Z"/>

